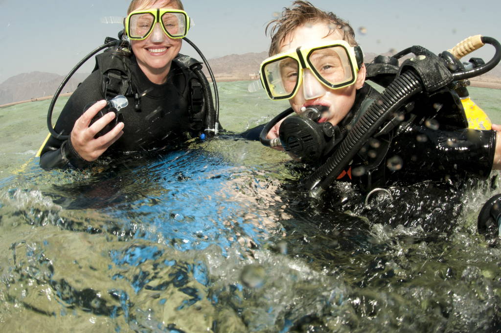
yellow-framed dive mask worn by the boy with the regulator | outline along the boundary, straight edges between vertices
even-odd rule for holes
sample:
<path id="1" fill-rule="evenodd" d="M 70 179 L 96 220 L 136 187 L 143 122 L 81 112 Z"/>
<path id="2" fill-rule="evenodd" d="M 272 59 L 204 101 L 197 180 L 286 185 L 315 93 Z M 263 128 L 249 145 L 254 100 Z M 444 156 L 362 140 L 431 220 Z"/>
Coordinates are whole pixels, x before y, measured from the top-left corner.
<path id="1" fill-rule="evenodd" d="M 300 46 L 263 61 L 261 83 L 271 99 L 290 99 L 303 82 L 304 70 L 309 69 L 326 87 L 340 89 L 355 83 L 362 63 L 360 47 L 343 40 Z"/>

